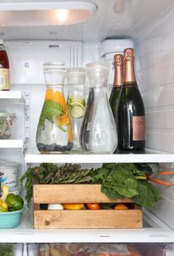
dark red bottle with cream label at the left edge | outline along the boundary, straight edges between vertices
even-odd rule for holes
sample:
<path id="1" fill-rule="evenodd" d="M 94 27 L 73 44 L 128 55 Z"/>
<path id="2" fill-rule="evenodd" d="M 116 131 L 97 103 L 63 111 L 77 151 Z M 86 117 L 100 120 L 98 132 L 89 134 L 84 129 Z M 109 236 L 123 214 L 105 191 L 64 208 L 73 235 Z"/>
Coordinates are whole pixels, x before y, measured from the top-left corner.
<path id="1" fill-rule="evenodd" d="M 10 90 L 9 60 L 4 46 L 4 41 L 0 39 L 0 91 Z"/>

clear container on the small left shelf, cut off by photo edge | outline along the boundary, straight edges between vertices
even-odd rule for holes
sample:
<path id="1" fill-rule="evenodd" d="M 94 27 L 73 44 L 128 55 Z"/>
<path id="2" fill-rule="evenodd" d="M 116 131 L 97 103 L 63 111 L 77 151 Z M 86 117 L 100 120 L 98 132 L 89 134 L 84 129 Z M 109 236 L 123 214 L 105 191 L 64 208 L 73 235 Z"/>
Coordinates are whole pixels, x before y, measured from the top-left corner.
<path id="1" fill-rule="evenodd" d="M 0 139 L 8 139 L 11 136 L 15 113 L 0 112 Z"/>

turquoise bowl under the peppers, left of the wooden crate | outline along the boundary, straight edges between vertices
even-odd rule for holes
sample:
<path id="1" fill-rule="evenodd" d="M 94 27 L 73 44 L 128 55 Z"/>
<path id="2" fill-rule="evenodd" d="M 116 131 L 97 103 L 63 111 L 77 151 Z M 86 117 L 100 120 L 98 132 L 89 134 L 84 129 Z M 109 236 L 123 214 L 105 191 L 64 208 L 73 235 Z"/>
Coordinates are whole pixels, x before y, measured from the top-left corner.
<path id="1" fill-rule="evenodd" d="M 14 212 L 0 212 L 0 229 L 13 229 L 21 221 L 24 208 Z"/>

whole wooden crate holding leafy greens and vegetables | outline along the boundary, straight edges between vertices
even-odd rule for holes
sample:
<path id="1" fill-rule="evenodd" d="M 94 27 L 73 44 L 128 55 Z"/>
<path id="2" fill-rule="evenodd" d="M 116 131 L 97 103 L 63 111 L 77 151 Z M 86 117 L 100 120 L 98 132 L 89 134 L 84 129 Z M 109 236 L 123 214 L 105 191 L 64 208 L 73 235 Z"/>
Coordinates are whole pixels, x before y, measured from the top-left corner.
<path id="1" fill-rule="evenodd" d="M 112 201 L 100 184 L 34 184 L 35 229 L 142 228 L 142 210 L 129 198 Z M 131 203 L 131 210 L 40 210 L 40 204 Z"/>

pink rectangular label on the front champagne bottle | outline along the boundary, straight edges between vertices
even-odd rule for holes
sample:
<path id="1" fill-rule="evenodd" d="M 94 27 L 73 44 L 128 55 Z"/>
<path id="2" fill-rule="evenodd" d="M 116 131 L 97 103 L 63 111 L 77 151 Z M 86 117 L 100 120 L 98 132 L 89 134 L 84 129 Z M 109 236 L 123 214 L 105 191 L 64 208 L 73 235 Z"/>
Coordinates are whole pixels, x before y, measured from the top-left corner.
<path id="1" fill-rule="evenodd" d="M 133 117 L 133 141 L 145 140 L 145 117 Z"/>

